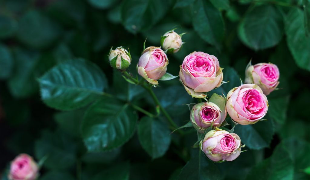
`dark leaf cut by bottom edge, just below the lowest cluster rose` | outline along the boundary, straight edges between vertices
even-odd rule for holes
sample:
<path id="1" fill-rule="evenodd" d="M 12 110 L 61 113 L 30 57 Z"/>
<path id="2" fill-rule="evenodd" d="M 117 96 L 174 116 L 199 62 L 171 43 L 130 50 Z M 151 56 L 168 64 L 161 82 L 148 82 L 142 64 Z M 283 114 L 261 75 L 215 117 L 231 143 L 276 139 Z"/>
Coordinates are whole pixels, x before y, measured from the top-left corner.
<path id="1" fill-rule="evenodd" d="M 190 161 L 182 168 L 179 174 L 179 180 L 211 180 L 222 179 L 222 175 L 215 163 L 207 160 L 207 157 L 203 155 L 203 152 L 199 150 L 199 154 L 192 157 Z"/>

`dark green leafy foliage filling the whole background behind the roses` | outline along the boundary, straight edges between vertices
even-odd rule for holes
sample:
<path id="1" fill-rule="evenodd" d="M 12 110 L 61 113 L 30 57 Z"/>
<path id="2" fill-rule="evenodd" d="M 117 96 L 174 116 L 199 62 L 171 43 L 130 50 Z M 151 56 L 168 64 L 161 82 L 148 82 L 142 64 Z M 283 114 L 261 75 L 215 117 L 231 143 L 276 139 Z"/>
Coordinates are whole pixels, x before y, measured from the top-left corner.
<path id="1" fill-rule="evenodd" d="M 178 75 L 193 51 L 215 55 L 230 81 L 214 90 L 218 94 L 240 85 L 250 59 L 280 69 L 280 90 L 268 95 L 268 121 L 236 126 L 247 151 L 235 161 L 214 164 L 192 149 L 194 129 L 170 134 L 161 116 L 152 121 L 134 111 L 131 104 L 157 113 L 145 90 L 108 63 L 111 46 L 130 48 L 135 75 L 144 40 L 160 46 L 161 35 L 173 28 L 187 32 L 186 43 L 168 56 L 168 72 Z M 308 0 L 0 0 L 2 179 L 19 153 L 37 161 L 48 155 L 42 180 L 309 179 L 309 36 Z M 54 75 L 66 70 L 64 81 L 77 78 L 77 86 L 115 98 L 74 89 L 56 97 L 51 83 L 62 83 Z M 178 126 L 188 122 L 184 104 L 197 102 L 177 79 L 160 82 L 155 94 Z M 82 100 L 73 104 L 77 98 Z M 94 125 L 100 118 L 128 126 L 123 132 L 117 124 L 115 131 L 100 128 Z M 105 136 L 116 139 L 104 146 Z"/>

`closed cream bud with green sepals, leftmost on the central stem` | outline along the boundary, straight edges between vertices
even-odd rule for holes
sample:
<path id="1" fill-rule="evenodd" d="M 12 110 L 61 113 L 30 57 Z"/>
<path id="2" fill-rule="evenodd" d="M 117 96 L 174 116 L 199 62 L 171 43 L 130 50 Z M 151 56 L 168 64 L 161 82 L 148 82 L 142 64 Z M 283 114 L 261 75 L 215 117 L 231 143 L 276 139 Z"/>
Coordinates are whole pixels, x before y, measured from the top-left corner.
<path id="1" fill-rule="evenodd" d="M 126 69 L 131 63 L 131 55 L 130 53 L 121 47 L 116 48 L 115 50 L 110 50 L 109 53 L 109 61 L 110 65 L 116 69 Z"/>

